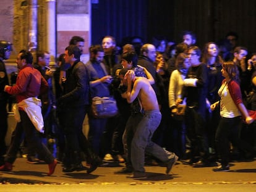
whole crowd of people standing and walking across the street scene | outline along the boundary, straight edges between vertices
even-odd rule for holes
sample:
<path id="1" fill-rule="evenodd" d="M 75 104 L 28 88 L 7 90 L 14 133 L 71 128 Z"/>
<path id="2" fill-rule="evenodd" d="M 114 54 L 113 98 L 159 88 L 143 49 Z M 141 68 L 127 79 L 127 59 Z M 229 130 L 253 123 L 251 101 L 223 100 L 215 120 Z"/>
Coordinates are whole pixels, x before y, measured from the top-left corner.
<path id="1" fill-rule="evenodd" d="M 0 170 L 12 170 L 22 141 L 28 162 L 45 161 L 48 175 L 58 162 L 63 172 L 87 173 L 125 163 L 116 173 L 144 178 L 145 164 L 165 165 L 168 174 L 178 160 L 216 167 L 213 171 L 228 171 L 233 160 L 253 161 L 256 54 L 249 56 L 237 42 L 237 34 L 230 32 L 200 49 L 195 34 L 184 31 L 179 43 L 165 38 L 144 43 L 135 36 L 119 47 L 113 36 L 105 36 L 90 46 L 90 59 L 82 62 L 84 40 L 73 36 L 54 71 L 48 51 L 36 52 L 35 64 L 31 52 L 20 51 L 17 80 L 9 86 L 3 60 L 12 48 L 1 41 Z M 2 138 L 12 94 L 20 119 L 7 150 Z M 118 114 L 96 117 L 95 97 L 113 97 Z"/>

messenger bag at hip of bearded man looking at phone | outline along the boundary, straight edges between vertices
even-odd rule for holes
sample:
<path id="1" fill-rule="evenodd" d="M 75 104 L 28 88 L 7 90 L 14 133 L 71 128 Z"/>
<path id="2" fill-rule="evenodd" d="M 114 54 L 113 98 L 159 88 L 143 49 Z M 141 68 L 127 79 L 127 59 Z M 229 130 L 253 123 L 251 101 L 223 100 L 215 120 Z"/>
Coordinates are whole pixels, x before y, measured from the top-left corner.
<path id="1" fill-rule="evenodd" d="M 92 98 L 92 114 L 96 118 L 114 117 L 118 114 L 116 100 L 112 97 Z"/>

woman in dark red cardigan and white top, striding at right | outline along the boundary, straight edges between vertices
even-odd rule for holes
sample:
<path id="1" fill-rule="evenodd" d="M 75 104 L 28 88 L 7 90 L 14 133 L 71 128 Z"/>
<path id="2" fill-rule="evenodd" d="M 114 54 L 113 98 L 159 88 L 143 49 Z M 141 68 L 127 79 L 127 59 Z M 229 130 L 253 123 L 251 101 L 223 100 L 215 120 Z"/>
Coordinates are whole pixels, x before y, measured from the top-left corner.
<path id="1" fill-rule="evenodd" d="M 229 170 L 229 140 L 247 154 L 253 152 L 253 148 L 239 138 L 239 130 L 242 126 L 241 117 L 247 124 L 252 123 L 254 119 L 249 115 L 242 102 L 237 65 L 234 62 L 224 62 L 221 73 L 225 78 L 218 91 L 221 99 L 211 105 L 212 111 L 220 105 L 221 115 L 215 135 L 216 149 L 221 159 L 221 165 L 213 169 L 215 172 Z"/>

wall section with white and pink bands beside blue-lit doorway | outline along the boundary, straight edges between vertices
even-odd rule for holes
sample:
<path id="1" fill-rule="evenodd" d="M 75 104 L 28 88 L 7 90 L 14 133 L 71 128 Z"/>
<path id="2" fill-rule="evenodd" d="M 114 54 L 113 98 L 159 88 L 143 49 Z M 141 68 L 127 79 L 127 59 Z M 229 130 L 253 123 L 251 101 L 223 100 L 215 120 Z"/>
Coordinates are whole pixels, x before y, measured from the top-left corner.
<path id="1" fill-rule="evenodd" d="M 81 60 L 88 61 L 90 44 L 90 0 L 61 0 L 57 3 L 58 54 L 62 54 L 72 36 L 82 36 L 85 47 Z"/>

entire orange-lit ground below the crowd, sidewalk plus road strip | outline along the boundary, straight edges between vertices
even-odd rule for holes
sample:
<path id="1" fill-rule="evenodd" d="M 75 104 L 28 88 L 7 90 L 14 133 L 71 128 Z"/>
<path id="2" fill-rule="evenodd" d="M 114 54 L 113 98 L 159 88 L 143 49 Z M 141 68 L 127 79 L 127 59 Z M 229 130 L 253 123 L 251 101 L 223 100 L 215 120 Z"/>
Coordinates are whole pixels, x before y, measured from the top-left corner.
<path id="1" fill-rule="evenodd" d="M 108 167 L 98 167 L 95 172 L 87 174 L 85 170 L 64 173 L 61 164 L 58 164 L 53 175 L 47 176 L 47 164 L 28 164 L 25 158 L 20 157 L 15 161 L 12 172 L 0 172 L 0 191 L 21 191 L 22 186 L 26 186 L 28 191 L 41 186 L 36 188 L 37 192 L 40 189 L 48 190 L 47 188 L 50 191 L 82 191 L 85 186 L 87 190 L 94 192 L 110 191 L 113 188 L 119 191 L 129 191 L 130 188 L 136 189 L 135 191 L 162 191 L 170 187 L 173 190 L 179 189 L 177 191 L 204 189 L 234 192 L 241 188 L 244 191 L 256 191 L 256 161 L 232 162 L 229 172 L 213 172 L 213 167 L 194 168 L 177 161 L 169 175 L 165 174 L 166 167 L 145 166 L 147 178 L 140 180 L 114 173 L 123 166 L 124 164 L 109 164 Z"/>

